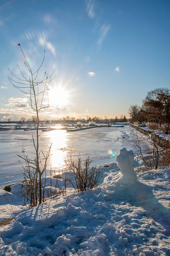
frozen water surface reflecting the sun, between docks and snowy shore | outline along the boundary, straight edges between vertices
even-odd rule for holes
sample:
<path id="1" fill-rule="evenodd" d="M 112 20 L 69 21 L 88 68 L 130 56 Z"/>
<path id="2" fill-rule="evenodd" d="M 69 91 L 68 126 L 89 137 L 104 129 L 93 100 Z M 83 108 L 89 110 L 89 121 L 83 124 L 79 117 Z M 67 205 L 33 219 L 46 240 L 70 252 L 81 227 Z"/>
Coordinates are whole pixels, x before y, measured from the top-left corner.
<path id="1" fill-rule="evenodd" d="M 23 147 L 26 155 L 32 155 L 34 149 L 32 134 L 35 136 L 35 132 L 34 130 L 0 132 L 0 188 L 22 180 L 22 165 L 25 163 L 18 155 L 22 156 Z M 93 165 L 113 161 L 122 146 L 134 149 L 128 143 L 132 133 L 133 130 L 129 126 L 98 127 L 78 132 L 53 130 L 41 133 L 40 147 L 47 151 L 52 143 L 48 168 L 51 167 L 57 172 L 63 168 L 64 158 L 70 156 L 70 152 L 73 160 L 76 160 L 79 154 L 83 159 L 90 156 Z M 114 155 L 108 153 L 109 149 Z M 111 157 L 114 159 L 110 159 Z"/>

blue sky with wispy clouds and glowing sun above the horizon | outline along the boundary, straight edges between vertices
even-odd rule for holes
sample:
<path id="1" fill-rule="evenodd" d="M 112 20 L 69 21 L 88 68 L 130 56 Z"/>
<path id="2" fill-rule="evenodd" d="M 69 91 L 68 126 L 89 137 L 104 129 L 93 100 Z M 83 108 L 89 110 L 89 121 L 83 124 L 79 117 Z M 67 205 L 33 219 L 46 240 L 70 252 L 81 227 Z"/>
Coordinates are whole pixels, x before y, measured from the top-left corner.
<path id="1" fill-rule="evenodd" d="M 35 115 L 8 80 L 9 69 L 22 78 L 18 66 L 26 75 L 18 43 L 33 71 L 45 50 L 38 81 L 55 70 L 49 105 L 66 106 L 42 109 L 41 120 L 129 117 L 147 92 L 170 87 L 169 13 L 169 0 L 1 0 L 0 121 Z"/>

